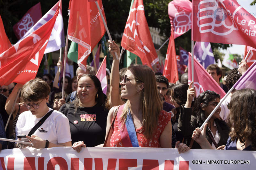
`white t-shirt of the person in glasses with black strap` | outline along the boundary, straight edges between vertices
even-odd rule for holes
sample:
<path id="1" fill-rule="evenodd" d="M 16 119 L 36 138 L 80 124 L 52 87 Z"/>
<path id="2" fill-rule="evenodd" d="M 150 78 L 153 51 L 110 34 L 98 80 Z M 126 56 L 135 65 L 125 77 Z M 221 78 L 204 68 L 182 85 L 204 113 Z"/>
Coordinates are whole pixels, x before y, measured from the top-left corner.
<path id="1" fill-rule="evenodd" d="M 51 110 L 49 108 L 48 112 Z M 16 139 L 17 135 L 28 135 L 41 118 L 36 118 L 29 110 L 20 114 L 16 124 Z M 53 144 L 71 141 L 68 118 L 57 110 L 53 110 L 52 114 L 33 134 L 44 140 L 47 139 Z"/>

